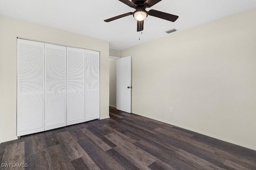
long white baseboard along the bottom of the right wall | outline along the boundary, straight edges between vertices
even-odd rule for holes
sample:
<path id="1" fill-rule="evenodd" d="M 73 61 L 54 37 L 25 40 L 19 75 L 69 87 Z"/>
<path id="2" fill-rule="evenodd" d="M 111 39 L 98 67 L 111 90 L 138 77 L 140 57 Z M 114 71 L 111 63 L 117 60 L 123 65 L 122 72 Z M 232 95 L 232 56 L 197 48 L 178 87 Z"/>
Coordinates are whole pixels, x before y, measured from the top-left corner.
<path id="1" fill-rule="evenodd" d="M 165 120 L 161 120 L 161 119 L 157 119 L 155 117 L 150 117 L 148 115 L 143 115 L 143 114 L 139 114 L 139 113 L 136 113 L 136 112 L 132 112 L 133 114 L 135 115 L 140 115 L 140 116 L 143 116 L 143 117 L 147 117 L 149 119 L 154 119 L 156 121 L 160 121 L 160 122 L 163 122 L 163 123 L 167 123 L 169 125 L 173 125 L 173 126 L 176 126 L 176 127 L 180 127 L 180 128 L 184 128 L 186 130 L 191 130 L 193 132 L 197 132 L 197 133 L 200 133 L 200 134 L 203 134 L 203 135 L 206 135 L 206 136 L 209 136 L 209 137 L 212 137 L 212 138 L 216 138 L 216 139 L 219 139 L 219 140 L 223 140 L 225 142 L 229 142 L 229 143 L 232 143 L 232 144 L 236 144 L 236 145 L 239 145 L 239 146 L 242 146 L 242 147 L 245 147 L 245 148 L 249 148 L 249 149 L 252 149 L 252 150 L 256 150 L 256 146 L 250 146 L 250 145 L 247 145 L 247 144 L 244 144 L 244 143 L 240 143 L 240 142 L 237 142 L 237 141 L 234 141 L 234 140 L 231 140 L 231 139 L 228 139 L 228 138 L 223 138 L 221 136 L 218 136 L 218 135 L 214 135 L 214 134 L 209 134 L 207 132 L 202 132 L 200 130 L 196 130 L 196 129 L 193 129 L 193 128 L 189 128 L 189 127 L 186 127 L 186 126 L 183 126 L 183 125 L 179 125 L 179 124 L 176 124 L 176 123 L 173 123 L 173 122 L 170 122 L 170 121 L 165 121 Z"/>

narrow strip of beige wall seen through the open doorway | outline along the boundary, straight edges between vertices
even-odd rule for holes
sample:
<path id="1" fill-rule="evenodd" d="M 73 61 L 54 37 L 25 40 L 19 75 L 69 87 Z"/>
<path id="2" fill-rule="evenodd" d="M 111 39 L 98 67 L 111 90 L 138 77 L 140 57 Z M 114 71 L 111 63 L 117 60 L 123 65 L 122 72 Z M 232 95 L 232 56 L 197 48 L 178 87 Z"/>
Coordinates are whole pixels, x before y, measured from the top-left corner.
<path id="1" fill-rule="evenodd" d="M 109 59 L 109 105 L 116 107 L 116 59 Z"/>

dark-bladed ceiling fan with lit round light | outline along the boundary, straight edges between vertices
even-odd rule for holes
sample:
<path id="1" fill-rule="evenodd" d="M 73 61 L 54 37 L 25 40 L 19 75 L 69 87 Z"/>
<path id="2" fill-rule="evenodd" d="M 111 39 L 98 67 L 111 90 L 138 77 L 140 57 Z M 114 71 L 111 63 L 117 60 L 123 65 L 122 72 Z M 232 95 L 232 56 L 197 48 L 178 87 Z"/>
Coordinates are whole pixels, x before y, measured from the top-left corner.
<path id="1" fill-rule="evenodd" d="M 109 18 L 107 20 L 104 20 L 105 22 L 110 22 L 113 20 L 117 20 L 119 18 L 123 18 L 125 16 L 133 15 L 134 18 L 137 20 L 137 32 L 143 30 L 144 25 L 144 19 L 147 18 L 148 15 L 154 16 L 157 18 L 162 18 L 164 20 L 168 20 L 171 22 L 174 22 L 178 19 L 178 16 L 168 14 L 165 12 L 157 11 L 157 10 L 149 10 L 146 11 L 146 8 L 150 8 L 156 3 L 160 2 L 161 0 L 119 0 L 123 2 L 124 4 L 132 7 L 135 9 L 134 12 L 128 12 L 126 14 L 118 15 L 113 18 Z"/>

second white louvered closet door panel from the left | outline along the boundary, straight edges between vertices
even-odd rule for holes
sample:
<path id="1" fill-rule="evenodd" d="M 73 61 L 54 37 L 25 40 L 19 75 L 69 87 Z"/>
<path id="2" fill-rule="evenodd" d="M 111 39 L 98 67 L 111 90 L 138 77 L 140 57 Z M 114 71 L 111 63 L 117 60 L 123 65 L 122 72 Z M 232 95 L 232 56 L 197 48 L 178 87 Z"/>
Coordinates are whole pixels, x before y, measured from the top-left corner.
<path id="1" fill-rule="evenodd" d="M 66 47 L 45 43 L 45 130 L 66 126 Z"/>

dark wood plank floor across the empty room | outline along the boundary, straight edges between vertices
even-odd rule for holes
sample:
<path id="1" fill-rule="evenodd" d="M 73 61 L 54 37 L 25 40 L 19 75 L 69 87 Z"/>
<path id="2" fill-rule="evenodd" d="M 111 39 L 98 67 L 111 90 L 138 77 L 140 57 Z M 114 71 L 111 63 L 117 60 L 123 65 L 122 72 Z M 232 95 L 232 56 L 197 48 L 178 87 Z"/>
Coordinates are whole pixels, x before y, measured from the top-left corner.
<path id="1" fill-rule="evenodd" d="M 256 170 L 254 150 L 114 108 L 110 119 L 1 143 L 0 160 L 0 169 Z"/>

